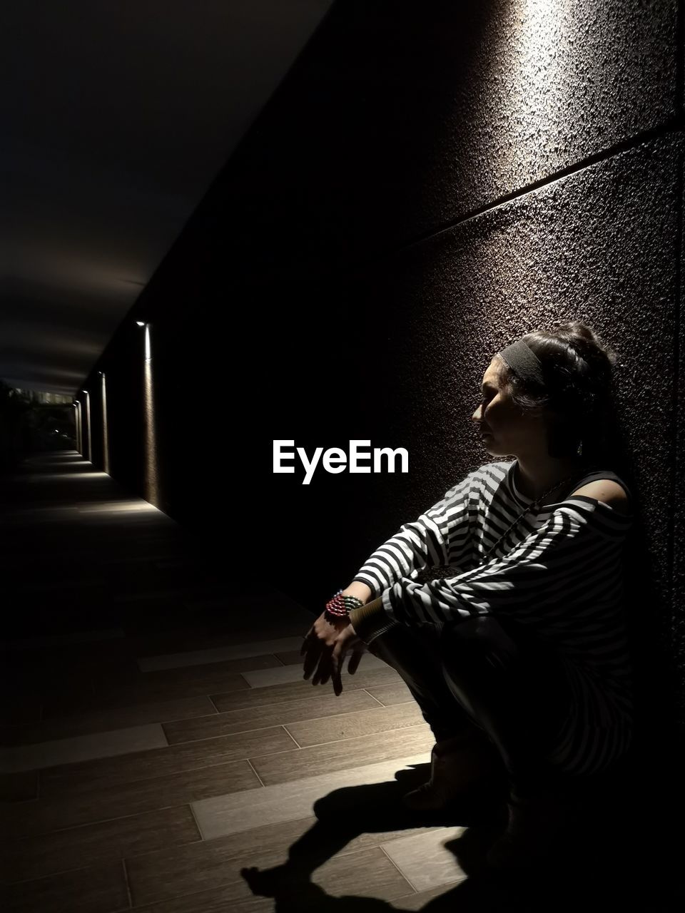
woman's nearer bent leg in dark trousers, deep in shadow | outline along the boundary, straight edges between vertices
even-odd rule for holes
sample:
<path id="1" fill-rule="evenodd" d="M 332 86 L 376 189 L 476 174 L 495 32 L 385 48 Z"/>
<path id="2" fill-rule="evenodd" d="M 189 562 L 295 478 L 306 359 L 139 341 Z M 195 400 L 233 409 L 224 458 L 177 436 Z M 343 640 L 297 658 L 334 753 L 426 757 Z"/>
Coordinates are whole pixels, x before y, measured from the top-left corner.
<path id="1" fill-rule="evenodd" d="M 551 650 L 525 625 L 491 615 L 446 625 L 440 650 L 450 694 L 487 731 L 516 792 L 554 776 L 544 755 L 570 697 Z"/>

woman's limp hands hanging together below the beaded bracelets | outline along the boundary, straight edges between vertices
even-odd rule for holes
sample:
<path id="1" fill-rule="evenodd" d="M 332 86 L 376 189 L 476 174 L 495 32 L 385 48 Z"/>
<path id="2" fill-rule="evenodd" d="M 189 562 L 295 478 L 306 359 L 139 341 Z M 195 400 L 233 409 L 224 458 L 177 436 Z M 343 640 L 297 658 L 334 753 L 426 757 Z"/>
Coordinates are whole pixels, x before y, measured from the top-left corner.
<path id="1" fill-rule="evenodd" d="M 353 656 L 347 664 L 347 671 L 353 675 L 366 649 L 364 641 L 357 635 L 349 619 L 341 618 L 339 622 L 331 623 L 321 614 L 311 625 L 300 649 L 300 656 L 305 655 L 304 678 L 309 678 L 316 668 L 311 684 L 325 685 L 332 678 L 333 691 L 340 695 L 342 664 L 350 649 L 353 650 Z"/>

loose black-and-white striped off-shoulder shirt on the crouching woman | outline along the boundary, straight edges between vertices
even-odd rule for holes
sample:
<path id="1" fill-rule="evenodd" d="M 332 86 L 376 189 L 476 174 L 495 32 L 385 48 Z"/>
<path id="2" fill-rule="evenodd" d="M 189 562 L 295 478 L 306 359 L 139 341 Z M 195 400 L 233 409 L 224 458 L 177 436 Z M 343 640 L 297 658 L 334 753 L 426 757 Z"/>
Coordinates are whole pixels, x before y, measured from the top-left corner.
<path id="1" fill-rule="evenodd" d="M 354 577 L 380 597 L 385 624 L 441 628 L 474 614 L 509 616 L 530 624 L 564 668 L 572 712 L 564 719 L 547 759 L 569 774 L 603 770 L 628 748 L 632 729 L 631 666 L 623 614 L 624 544 L 633 523 L 624 514 L 570 491 L 610 470 L 576 480 L 562 501 L 531 509 L 516 487 L 516 460 L 497 461 L 470 472 L 437 504 L 381 545 Z M 456 574 L 418 582 L 432 565 Z M 449 572 L 448 572 L 449 573 Z M 363 610 L 357 610 L 363 611 Z M 364 634 L 360 635 L 366 642 Z"/>

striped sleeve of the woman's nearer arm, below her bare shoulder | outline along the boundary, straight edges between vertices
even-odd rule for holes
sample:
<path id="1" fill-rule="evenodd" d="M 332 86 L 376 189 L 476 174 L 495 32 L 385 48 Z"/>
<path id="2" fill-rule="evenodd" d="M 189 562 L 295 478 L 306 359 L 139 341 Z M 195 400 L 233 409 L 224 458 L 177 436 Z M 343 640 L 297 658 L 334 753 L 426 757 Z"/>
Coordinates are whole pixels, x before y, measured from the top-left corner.
<path id="1" fill-rule="evenodd" d="M 575 496 L 501 558 L 424 584 L 402 577 L 381 594 L 386 621 L 408 626 L 510 614 L 524 622 L 587 603 L 608 579 L 632 524 L 596 498 Z"/>

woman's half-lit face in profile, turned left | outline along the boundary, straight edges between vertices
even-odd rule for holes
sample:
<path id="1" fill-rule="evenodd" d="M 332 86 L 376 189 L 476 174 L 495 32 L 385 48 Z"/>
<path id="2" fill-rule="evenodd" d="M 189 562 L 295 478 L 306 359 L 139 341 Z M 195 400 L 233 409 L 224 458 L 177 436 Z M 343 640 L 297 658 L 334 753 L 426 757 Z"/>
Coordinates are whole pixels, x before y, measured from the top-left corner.
<path id="1" fill-rule="evenodd" d="M 483 445 L 492 456 L 538 456 L 547 453 L 542 415 L 523 414 L 501 385 L 501 359 L 495 357 L 483 374 L 482 399 L 471 418 L 479 425 Z"/>

